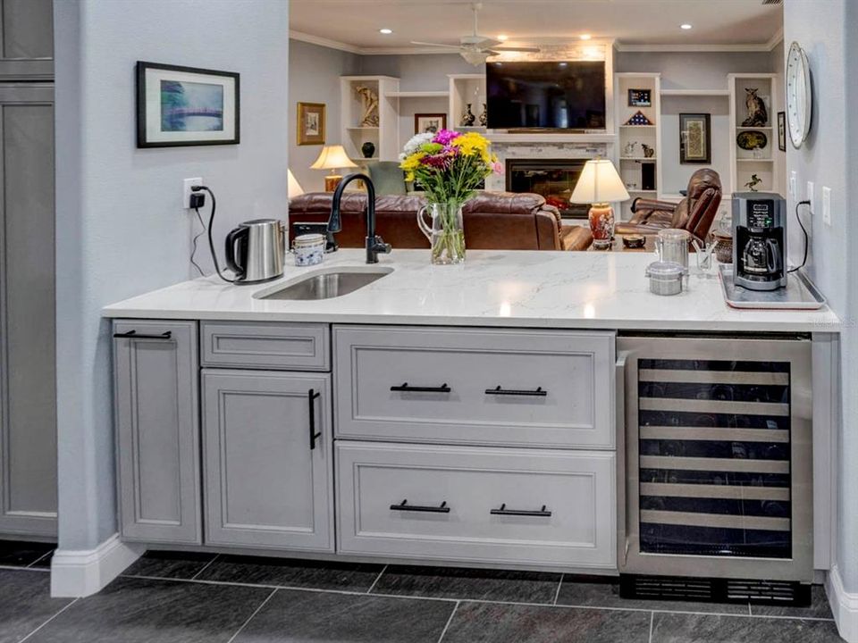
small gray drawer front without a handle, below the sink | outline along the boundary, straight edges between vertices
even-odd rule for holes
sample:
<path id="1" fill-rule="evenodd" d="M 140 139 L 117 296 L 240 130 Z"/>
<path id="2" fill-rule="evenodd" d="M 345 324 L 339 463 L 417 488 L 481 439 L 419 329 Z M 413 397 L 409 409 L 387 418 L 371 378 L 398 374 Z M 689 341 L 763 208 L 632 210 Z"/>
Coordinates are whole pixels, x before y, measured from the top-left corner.
<path id="1" fill-rule="evenodd" d="M 330 371 L 326 324 L 204 321 L 204 366 Z"/>

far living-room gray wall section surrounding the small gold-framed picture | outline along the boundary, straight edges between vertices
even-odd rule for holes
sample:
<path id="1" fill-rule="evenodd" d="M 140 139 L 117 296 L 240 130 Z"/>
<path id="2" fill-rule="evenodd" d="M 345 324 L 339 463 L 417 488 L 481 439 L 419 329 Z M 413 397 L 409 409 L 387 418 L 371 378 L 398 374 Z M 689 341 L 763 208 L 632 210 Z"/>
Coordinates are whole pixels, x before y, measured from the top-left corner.
<path id="1" fill-rule="evenodd" d="M 324 189 L 325 171 L 310 170 L 322 146 L 299 146 L 298 103 L 324 103 L 325 144 L 342 141 L 340 131 L 340 77 L 357 74 L 359 56 L 348 52 L 290 40 L 289 59 L 289 163 L 290 170 L 307 192 Z"/>

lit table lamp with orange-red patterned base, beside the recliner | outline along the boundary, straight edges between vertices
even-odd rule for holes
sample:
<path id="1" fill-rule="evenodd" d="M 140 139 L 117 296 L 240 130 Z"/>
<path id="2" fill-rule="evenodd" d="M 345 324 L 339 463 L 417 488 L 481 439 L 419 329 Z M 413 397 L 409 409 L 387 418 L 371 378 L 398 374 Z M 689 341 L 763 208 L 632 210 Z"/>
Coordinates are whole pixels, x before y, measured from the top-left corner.
<path id="1" fill-rule="evenodd" d="M 617 168 L 609 159 L 587 161 L 569 199 L 572 203 L 590 205 L 590 231 L 593 246 L 607 248 L 614 237 L 614 210 L 611 201 L 626 201 L 628 192 Z"/>

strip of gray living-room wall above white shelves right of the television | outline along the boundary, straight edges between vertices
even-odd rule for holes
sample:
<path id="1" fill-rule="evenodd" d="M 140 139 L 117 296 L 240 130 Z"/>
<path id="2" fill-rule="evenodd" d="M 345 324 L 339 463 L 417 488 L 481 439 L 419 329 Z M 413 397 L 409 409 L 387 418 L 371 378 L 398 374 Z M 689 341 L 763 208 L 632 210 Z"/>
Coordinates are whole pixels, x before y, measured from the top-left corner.
<path id="1" fill-rule="evenodd" d="M 614 71 L 660 71 L 662 89 L 726 89 L 728 73 L 774 71 L 768 52 L 615 52 Z"/>

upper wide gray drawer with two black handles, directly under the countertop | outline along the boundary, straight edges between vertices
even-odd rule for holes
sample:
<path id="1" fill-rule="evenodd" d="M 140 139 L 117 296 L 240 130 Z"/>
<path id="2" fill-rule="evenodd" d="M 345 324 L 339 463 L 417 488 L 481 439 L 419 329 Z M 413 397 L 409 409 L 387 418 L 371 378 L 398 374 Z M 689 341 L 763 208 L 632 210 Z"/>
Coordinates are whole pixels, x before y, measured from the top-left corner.
<path id="1" fill-rule="evenodd" d="M 341 438 L 614 445 L 614 335 L 336 326 Z"/>

